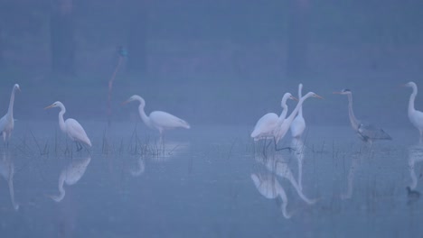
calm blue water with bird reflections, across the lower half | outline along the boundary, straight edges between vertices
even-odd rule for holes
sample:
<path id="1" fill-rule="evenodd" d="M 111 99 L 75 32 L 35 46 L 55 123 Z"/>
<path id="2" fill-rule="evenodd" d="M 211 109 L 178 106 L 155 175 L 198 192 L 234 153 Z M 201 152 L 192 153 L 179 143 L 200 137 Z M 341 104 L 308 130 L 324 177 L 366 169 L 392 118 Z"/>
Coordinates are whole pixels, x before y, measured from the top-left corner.
<path id="1" fill-rule="evenodd" d="M 141 124 L 81 122 L 93 148 L 71 152 L 57 122 L 19 123 L 0 153 L 0 237 L 423 234 L 422 201 L 406 191 L 421 190 L 413 128 L 386 128 L 394 140 L 368 148 L 349 127 L 311 127 L 304 146 L 275 152 L 255 146 L 249 127 L 175 130 L 163 148 Z M 262 196 L 252 174 L 287 199 Z"/>

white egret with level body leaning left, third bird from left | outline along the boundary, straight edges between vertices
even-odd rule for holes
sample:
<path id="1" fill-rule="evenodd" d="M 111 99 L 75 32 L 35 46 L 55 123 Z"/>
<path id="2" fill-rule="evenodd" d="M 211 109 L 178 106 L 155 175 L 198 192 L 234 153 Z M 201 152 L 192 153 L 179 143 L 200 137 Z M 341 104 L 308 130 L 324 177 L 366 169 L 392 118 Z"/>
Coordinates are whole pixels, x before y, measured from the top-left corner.
<path id="1" fill-rule="evenodd" d="M 143 120 L 146 126 L 156 129 L 160 133 L 160 139 L 163 139 L 163 134 L 165 130 L 170 130 L 178 127 L 182 127 L 185 129 L 190 129 L 191 126 L 187 122 L 183 121 L 183 119 L 174 116 L 173 114 L 168 114 L 162 111 L 154 111 L 150 113 L 149 116 L 146 115 L 144 111 L 144 107 L 146 106 L 146 101 L 141 96 L 131 96 L 127 99 L 127 101 L 123 102 L 123 104 L 127 104 L 132 101 L 138 101 L 138 111 L 141 119 Z M 163 142 L 163 140 L 162 140 Z"/>

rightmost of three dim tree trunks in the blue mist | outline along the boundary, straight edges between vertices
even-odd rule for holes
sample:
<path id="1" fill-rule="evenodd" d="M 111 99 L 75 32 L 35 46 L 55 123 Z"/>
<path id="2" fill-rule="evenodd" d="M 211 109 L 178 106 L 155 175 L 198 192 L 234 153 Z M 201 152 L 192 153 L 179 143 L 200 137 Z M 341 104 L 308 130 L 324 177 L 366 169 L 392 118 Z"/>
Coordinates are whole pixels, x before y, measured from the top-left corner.
<path id="1" fill-rule="evenodd" d="M 297 77 L 308 71 L 309 0 L 289 0 L 287 75 Z"/>

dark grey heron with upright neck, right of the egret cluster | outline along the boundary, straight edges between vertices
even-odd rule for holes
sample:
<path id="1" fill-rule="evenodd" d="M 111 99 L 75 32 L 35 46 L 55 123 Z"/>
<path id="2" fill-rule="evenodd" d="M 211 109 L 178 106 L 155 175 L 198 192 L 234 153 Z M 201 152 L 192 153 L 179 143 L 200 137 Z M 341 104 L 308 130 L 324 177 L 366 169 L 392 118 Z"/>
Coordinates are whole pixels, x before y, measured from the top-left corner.
<path id="1" fill-rule="evenodd" d="M 334 92 L 334 94 L 348 96 L 348 114 L 350 115 L 350 122 L 353 130 L 357 133 L 363 142 L 374 142 L 377 140 L 392 140 L 388 133 L 374 124 L 364 123 L 355 118 L 353 112 L 353 93 L 350 89 L 343 89 L 341 92 Z"/>

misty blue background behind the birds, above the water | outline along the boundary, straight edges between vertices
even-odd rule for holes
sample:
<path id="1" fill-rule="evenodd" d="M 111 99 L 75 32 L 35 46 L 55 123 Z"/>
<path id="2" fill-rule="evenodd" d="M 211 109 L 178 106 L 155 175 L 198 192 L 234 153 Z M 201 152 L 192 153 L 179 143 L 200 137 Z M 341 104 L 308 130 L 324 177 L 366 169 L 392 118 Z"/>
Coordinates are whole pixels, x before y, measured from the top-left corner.
<path id="1" fill-rule="evenodd" d="M 71 26 L 60 22 L 62 9 Z M 18 120 L 56 121 L 56 110 L 42 108 L 60 100 L 65 117 L 106 121 L 108 80 L 124 46 L 112 94 L 116 121 L 140 120 L 136 105 L 120 105 L 138 94 L 147 114 L 163 110 L 193 127 L 252 127 L 265 113 L 279 114 L 283 94 L 296 96 L 302 82 L 303 94 L 325 98 L 305 102 L 308 125 L 349 126 L 347 98 L 332 92 L 350 88 L 359 119 L 412 127 L 411 90 L 400 84 L 423 87 L 421 9 L 418 0 L 1 0 L 0 113 L 19 83 Z M 71 30 L 54 38 L 52 28 L 63 24 Z M 60 39 L 73 42 L 73 68 L 65 61 L 54 69 L 66 55 Z"/>

